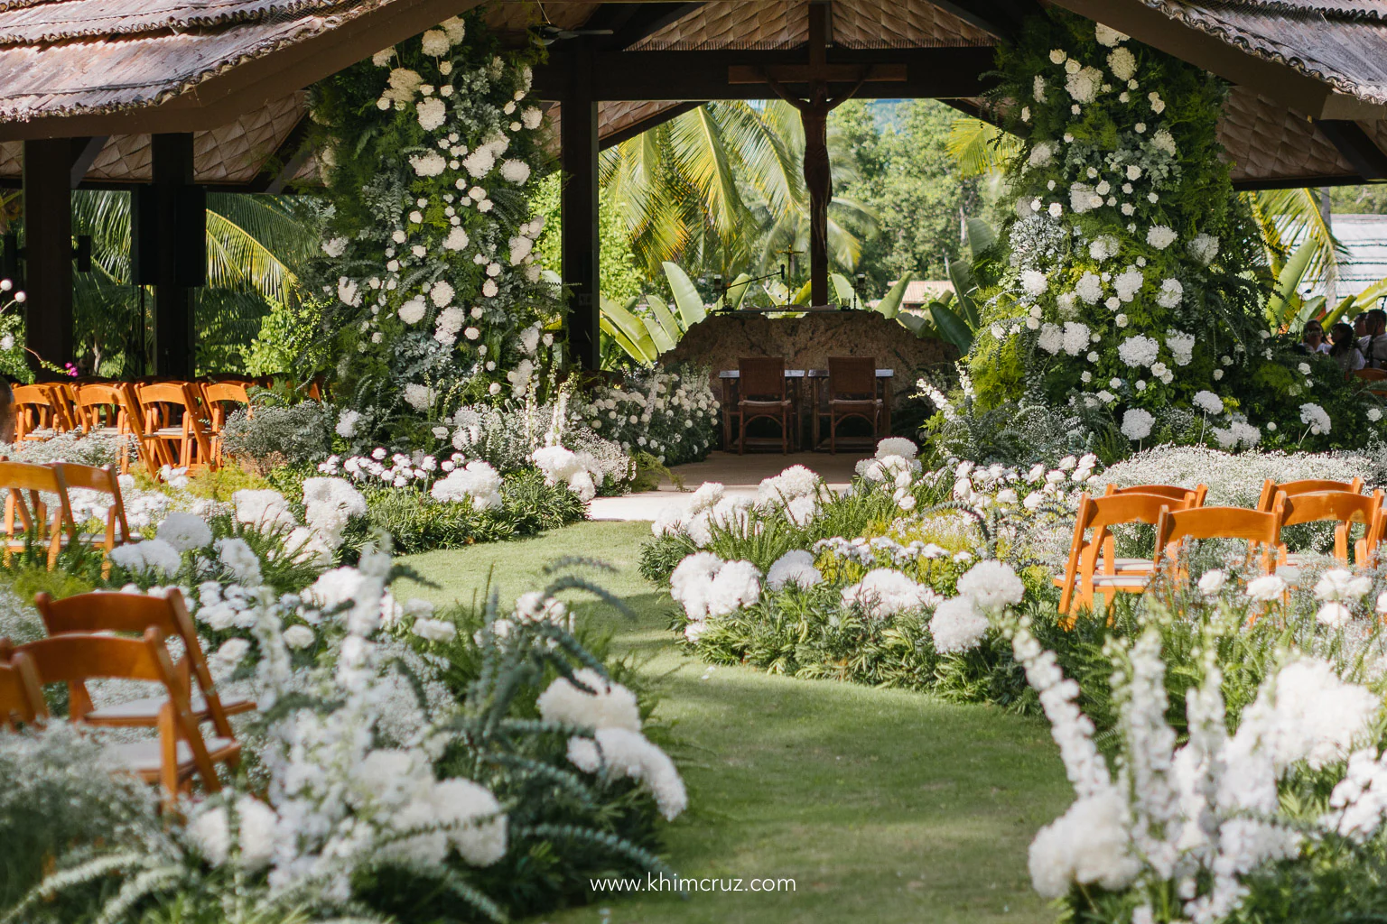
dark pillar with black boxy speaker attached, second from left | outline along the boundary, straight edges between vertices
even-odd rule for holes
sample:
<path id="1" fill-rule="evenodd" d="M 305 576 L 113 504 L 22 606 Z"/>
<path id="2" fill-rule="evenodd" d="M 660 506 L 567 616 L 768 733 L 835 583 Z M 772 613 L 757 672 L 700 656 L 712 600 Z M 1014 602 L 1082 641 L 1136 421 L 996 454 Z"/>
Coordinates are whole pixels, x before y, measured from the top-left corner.
<path id="1" fill-rule="evenodd" d="M 154 285 L 154 371 L 196 371 L 193 288 L 207 276 L 207 195 L 193 183 L 193 134 L 151 137 L 154 181 L 132 202 L 135 281 Z"/>

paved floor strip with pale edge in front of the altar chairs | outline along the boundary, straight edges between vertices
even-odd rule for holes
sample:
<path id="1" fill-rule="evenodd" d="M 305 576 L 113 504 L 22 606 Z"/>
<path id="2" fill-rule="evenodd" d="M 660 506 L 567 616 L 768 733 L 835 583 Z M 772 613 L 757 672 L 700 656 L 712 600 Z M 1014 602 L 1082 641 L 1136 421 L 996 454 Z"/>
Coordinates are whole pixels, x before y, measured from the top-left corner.
<path id="1" fill-rule="evenodd" d="M 761 479 L 781 474 L 791 465 L 804 465 L 818 472 L 832 490 L 846 490 L 860 459 L 871 453 L 735 453 L 714 452 L 700 463 L 675 465 L 671 471 L 684 479 L 685 490 L 664 482 L 657 490 L 645 490 L 620 497 L 596 497 L 591 504 L 592 519 L 655 519 L 671 504 L 684 506 L 689 495 L 705 481 L 720 481 L 728 495 L 756 495 Z"/>

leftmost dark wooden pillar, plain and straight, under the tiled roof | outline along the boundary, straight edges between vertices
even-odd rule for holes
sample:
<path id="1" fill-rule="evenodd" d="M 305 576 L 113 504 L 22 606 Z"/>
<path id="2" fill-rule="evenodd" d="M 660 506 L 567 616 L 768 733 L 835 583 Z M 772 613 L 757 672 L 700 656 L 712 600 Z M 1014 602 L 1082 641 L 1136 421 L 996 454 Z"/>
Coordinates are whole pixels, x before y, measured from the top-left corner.
<path id="1" fill-rule="evenodd" d="M 72 362 L 72 140 L 24 143 L 25 341 L 37 357 Z M 37 357 L 35 356 L 37 353 Z"/>

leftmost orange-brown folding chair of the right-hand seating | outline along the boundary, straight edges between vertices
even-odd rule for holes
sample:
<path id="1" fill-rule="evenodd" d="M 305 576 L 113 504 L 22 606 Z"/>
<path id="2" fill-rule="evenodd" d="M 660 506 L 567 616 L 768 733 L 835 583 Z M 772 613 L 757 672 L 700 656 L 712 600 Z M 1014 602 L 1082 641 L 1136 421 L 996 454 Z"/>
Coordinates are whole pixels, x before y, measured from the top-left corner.
<path id="1" fill-rule="evenodd" d="M 1092 608 L 1094 593 L 1101 593 L 1107 603 L 1118 593 L 1142 593 L 1155 571 L 1155 554 L 1151 558 L 1117 558 L 1112 526 L 1155 525 L 1162 510 L 1172 506 L 1186 510 L 1193 507 L 1196 499 L 1203 500 L 1203 495 L 1194 490 L 1184 492 L 1183 497 L 1139 493 L 1080 496 L 1064 576 L 1054 579 L 1060 587 L 1060 612 L 1072 615 L 1080 607 Z M 1090 529 L 1093 536 L 1085 539 Z"/>

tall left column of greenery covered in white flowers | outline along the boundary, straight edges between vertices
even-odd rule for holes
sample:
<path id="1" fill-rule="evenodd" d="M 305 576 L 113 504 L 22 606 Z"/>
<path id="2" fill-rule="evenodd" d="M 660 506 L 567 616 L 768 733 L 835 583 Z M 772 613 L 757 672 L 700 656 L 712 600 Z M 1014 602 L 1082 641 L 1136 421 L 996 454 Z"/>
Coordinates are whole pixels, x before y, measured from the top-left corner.
<path id="1" fill-rule="evenodd" d="M 447 442 L 462 405 L 549 388 L 562 306 L 531 254 L 548 157 L 530 79 L 455 17 L 313 87 L 319 348 L 345 439 Z"/>

